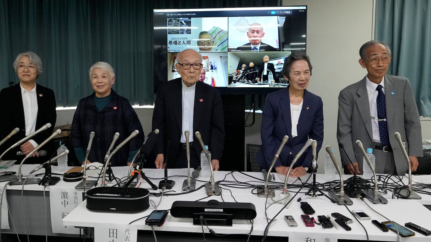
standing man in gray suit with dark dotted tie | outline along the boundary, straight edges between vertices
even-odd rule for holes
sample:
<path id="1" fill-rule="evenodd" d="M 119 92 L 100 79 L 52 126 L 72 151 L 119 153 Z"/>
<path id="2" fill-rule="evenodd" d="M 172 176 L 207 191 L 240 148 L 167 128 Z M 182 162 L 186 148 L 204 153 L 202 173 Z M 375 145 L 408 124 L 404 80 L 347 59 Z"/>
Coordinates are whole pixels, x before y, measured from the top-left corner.
<path id="1" fill-rule="evenodd" d="M 385 43 L 371 40 L 362 45 L 359 55 L 359 64 L 368 74 L 341 90 L 338 96 L 337 140 L 346 151 L 340 149 L 344 172 L 362 171 L 363 155 L 356 146 L 356 140 L 361 140 L 364 149 L 373 149 L 376 173 L 405 174 L 408 164 L 395 132 L 400 133 L 415 171 L 417 157 L 423 154 L 422 136 L 409 80 L 386 74 L 391 56 Z"/>

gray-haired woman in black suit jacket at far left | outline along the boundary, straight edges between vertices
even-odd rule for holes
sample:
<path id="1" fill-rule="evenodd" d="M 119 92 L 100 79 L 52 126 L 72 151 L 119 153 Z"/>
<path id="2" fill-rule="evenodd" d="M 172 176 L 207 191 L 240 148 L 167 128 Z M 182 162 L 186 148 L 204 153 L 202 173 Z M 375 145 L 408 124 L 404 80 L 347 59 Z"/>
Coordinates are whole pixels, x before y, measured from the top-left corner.
<path id="1" fill-rule="evenodd" d="M 0 150 L 3 152 L 18 140 L 24 138 L 44 124 L 50 123 L 51 127 L 38 133 L 30 140 L 7 152 L 3 160 L 21 161 L 25 156 L 18 156 L 17 152 L 25 155 L 47 139 L 53 133 L 56 123 L 56 102 L 53 90 L 36 83 L 36 79 L 42 74 L 43 66 L 39 56 L 33 52 L 25 52 L 16 56 L 13 68 L 18 74 L 19 84 L 3 88 L 0 91 L 0 104 L 3 105 L 3 117 L 0 119 L 1 138 L 3 139 L 16 127 L 19 131 L 12 136 Z M 43 147 L 47 155 L 51 155 L 55 148 L 52 143 Z M 39 157 L 34 152 L 33 157 Z M 29 158 L 25 163 L 38 164 L 47 158 Z"/>

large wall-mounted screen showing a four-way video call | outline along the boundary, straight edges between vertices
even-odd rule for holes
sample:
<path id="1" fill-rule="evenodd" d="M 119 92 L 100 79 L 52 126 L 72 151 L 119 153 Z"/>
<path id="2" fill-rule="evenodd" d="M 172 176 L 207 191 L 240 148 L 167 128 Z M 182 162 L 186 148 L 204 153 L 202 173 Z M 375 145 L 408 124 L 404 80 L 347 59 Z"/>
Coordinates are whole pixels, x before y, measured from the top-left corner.
<path id="1" fill-rule="evenodd" d="M 292 51 L 306 51 L 307 6 L 154 9 L 154 93 L 179 78 L 177 55 L 203 56 L 200 81 L 221 93 L 270 93 Z"/>

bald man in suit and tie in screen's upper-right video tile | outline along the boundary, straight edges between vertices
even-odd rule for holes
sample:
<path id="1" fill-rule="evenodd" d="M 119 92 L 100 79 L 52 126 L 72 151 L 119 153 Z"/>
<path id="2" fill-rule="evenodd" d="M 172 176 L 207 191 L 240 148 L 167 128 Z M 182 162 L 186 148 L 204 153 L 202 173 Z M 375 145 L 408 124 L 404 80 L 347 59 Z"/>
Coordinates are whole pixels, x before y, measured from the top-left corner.
<path id="1" fill-rule="evenodd" d="M 262 25 L 258 23 L 251 24 L 247 31 L 247 37 L 250 43 L 246 43 L 243 46 L 237 47 L 240 51 L 277 51 L 274 47 L 269 44 L 262 42 L 265 32 L 263 31 Z"/>

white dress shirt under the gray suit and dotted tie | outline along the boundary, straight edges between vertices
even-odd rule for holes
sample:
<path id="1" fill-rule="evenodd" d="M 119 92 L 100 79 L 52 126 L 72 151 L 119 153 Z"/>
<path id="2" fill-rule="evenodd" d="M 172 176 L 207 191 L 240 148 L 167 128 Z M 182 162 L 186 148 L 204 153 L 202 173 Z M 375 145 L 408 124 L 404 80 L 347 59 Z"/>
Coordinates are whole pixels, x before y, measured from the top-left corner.
<path id="1" fill-rule="evenodd" d="M 377 95 L 378 90 L 377 85 L 381 85 L 383 88 L 381 89 L 384 92 L 384 77 L 381 80 L 380 84 L 375 84 L 370 81 L 368 77 L 365 78 L 367 83 L 367 92 L 368 92 L 368 102 L 370 104 L 370 116 L 371 116 L 371 127 L 373 131 L 373 140 L 374 142 L 380 143 L 380 133 L 378 131 L 378 116 L 377 116 Z"/>

